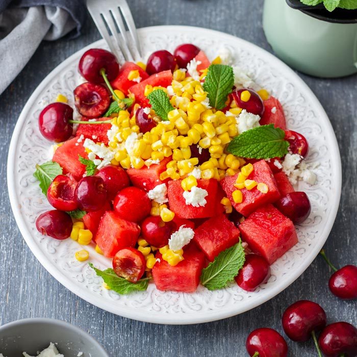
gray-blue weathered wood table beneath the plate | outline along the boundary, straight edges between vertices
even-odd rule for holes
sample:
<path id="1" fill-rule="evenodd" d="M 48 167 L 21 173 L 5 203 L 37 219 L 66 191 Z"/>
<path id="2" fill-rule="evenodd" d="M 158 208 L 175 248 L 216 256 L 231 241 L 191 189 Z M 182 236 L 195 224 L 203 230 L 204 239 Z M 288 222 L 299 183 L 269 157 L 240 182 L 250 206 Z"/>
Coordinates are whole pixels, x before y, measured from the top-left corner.
<path id="1" fill-rule="evenodd" d="M 197 25 L 239 36 L 271 52 L 262 30 L 262 3 L 262 0 L 132 0 L 130 6 L 139 28 L 161 24 Z M 143 323 L 107 313 L 75 296 L 47 273 L 22 239 L 11 212 L 6 183 L 8 147 L 22 107 L 45 75 L 97 39 L 99 34 L 88 19 L 81 37 L 43 42 L 18 78 L 0 96 L 0 324 L 27 317 L 62 319 L 88 331 L 113 357 L 246 356 L 244 344 L 249 332 L 270 326 L 283 333 L 281 315 L 298 299 L 319 302 L 328 322 L 342 320 L 356 324 L 356 303 L 330 294 L 327 287 L 330 270 L 320 257 L 288 289 L 260 307 L 225 320 L 188 326 Z M 325 249 L 335 265 L 355 264 L 357 78 L 321 80 L 299 75 L 325 108 L 342 157 L 340 209 Z M 289 355 L 317 355 L 312 341 L 288 343 Z"/>

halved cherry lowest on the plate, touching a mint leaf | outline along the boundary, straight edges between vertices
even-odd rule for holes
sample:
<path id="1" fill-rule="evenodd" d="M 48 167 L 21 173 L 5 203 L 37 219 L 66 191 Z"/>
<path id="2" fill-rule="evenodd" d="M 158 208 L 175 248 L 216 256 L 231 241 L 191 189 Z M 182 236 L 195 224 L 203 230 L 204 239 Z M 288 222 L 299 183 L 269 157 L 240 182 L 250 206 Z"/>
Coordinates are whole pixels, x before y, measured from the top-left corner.
<path id="1" fill-rule="evenodd" d="M 115 274 L 131 283 L 136 283 L 143 276 L 145 268 L 145 258 L 142 252 L 135 248 L 120 249 L 113 259 Z"/>

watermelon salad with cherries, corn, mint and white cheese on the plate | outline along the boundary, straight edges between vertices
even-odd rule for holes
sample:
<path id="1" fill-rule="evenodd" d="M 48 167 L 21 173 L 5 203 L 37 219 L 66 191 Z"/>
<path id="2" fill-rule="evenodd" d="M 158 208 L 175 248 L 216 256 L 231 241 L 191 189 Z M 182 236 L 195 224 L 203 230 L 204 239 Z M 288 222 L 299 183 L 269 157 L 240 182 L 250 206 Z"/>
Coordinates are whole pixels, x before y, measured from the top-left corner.
<path id="1" fill-rule="evenodd" d="M 54 209 L 36 227 L 77 241 L 80 262 L 112 260 L 105 270 L 89 263 L 105 288 L 127 294 L 152 281 L 194 292 L 236 281 L 254 291 L 297 243 L 294 224 L 311 205 L 294 185 L 316 181 L 308 142 L 231 61 L 227 49 L 211 61 L 193 44 L 146 64 L 89 49 L 75 108 L 59 94 L 40 113 L 54 154 L 34 176 Z"/>

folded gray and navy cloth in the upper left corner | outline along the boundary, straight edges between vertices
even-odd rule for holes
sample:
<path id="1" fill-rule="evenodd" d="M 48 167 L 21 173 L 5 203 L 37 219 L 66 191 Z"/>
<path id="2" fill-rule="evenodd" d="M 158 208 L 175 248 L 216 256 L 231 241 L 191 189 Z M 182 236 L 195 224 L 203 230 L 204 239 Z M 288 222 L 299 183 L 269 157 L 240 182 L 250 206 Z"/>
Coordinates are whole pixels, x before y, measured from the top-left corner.
<path id="1" fill-rule="evenodd" d="M 83 0 L 0 0 L 0 94 L 42 40 L 80 35 L 85 17 Z"/>

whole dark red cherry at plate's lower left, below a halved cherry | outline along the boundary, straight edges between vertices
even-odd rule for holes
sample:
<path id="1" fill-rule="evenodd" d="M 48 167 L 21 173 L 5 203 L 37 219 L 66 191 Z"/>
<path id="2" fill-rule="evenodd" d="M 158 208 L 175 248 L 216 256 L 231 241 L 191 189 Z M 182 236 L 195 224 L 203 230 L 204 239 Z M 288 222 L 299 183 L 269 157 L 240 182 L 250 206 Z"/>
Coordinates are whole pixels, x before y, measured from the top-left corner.
<path id="1" fill-rule="evenodd" d="M 72 225 L 69 214 L 58 210 L 44 212 L 36 219 L 38 232 L 59 240 L 70 236 Z"/>

